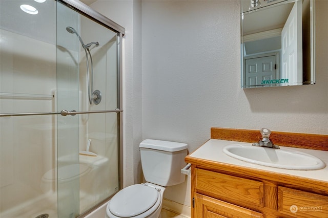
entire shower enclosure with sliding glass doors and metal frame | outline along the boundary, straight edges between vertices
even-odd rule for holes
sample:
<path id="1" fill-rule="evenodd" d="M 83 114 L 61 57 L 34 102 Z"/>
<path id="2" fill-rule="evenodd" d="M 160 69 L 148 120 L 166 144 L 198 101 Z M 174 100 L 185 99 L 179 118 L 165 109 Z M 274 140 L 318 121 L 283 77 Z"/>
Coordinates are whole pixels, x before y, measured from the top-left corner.
<path id="1" fill-rule="evenodd" d="M 0 217 L 78 217 L 121 186 L 125 29 L 75 0 L 0 16 Z"/>

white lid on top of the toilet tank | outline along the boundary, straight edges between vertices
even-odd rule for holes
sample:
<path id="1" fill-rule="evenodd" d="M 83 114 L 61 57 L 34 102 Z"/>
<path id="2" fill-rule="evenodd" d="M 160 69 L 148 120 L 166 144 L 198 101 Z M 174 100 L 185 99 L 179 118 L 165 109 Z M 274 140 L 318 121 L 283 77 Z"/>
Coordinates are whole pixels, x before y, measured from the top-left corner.
<path id="1" fill-rule="evenodd" d="M 139 148 L 150 148 L 155 150 L 163 150 L 163 151 L 180 151 L 188 148 L 188 144 L 180 143 L 180 142 L 169 142 L 169 141 L 161 141 L 154 139 L 145 139 L 139 145 Z"/>

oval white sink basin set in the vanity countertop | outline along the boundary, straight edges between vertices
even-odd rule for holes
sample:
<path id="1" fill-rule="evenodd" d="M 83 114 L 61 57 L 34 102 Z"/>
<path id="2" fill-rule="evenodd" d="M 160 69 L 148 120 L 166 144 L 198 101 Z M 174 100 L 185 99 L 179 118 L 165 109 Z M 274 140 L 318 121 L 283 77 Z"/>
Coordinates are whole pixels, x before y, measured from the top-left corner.
<path id="1" fill-rule="evenodd" d="M 304 152 L 286 148 L 274 149 L 252 145 L 230 144 L 223 148 L 230 157 L 282 169 L 314 170 L 322 169 L 326 164 L 317 157 Z"/>

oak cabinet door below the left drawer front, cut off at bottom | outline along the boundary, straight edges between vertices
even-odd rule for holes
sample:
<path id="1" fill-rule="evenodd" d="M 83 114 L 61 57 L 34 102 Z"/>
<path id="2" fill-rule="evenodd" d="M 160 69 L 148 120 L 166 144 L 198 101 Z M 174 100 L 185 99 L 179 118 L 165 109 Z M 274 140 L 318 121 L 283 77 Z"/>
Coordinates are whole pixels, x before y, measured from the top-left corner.
<path id="1" fill-rule="evenodd" d="M 194 212 L 197 218 L 263 217 L 262 213 L 213 199 L 202 194 L 195 193 L 194 198 Z"/>

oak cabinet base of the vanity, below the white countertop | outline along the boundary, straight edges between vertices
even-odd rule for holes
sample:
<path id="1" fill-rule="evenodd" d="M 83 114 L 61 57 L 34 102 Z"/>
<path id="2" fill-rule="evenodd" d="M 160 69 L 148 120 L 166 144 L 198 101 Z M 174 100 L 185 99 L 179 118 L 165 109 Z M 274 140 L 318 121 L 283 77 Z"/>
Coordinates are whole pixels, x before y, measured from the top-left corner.
<path id="1" fill-rule="evenodd" d="M 193 218 L 328 217 L 328 190 L 309 188 L 311 181 L 187 159 L 192 163 Z"/>

